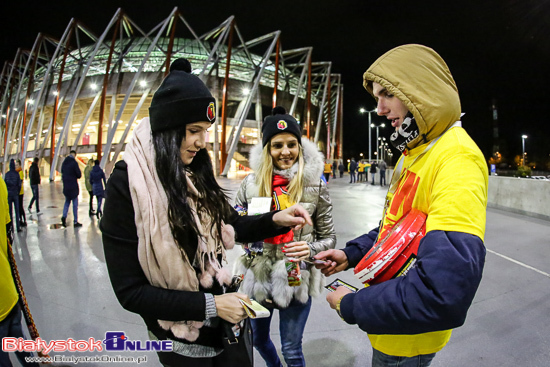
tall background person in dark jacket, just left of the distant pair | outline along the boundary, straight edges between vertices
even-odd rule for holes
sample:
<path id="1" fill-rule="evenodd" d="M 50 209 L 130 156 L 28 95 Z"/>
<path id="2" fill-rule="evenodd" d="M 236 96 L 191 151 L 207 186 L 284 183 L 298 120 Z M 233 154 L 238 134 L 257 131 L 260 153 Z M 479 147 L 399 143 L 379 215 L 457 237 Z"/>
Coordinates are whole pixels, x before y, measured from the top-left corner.
<path id="1" fill-rule="evenodd" d="M 71 153 L 63 160 L 61 164 L 61 180 L 63 181 L 63 195 L 65 195 L 65 205 L 63 206 L 63 216 L 61 224 L 67 227 L 67 214 L 69 214 L 69 206 L 73 203 L 74 226 L 82 227 L 78 223 L 78 179 L 82 177 L 82 172 L 76 162 L 76 151 L 71 150 Z"/>

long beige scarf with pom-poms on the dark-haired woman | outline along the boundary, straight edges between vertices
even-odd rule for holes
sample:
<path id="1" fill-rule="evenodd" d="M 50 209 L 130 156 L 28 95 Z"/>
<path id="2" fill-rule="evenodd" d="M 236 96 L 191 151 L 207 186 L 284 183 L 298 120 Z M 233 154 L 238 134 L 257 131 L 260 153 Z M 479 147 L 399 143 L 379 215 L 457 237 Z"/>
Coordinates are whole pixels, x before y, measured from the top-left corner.
<path id="1" fill-rule="evenodd" d="M 198 291 L 199 282 L 208 289 L 213 285 L 214 277 L 220 284 L 229 284 L 231 275 L 217 260 L 219 254 L 225 260 L 224 246 L 216 231 L 209 233 L 211 218 L 207 213 L 197 213 L 197 200 L 201 195 L 189 175 L 186 175 L 188 203 L 195 223 L 203 234 L 198 239 L 195 259 L 187 257 L 172 235 L 168 221 L 168 198 L 155 167 L 149 118 L 144 118 L 134 129 L 124 160 L 128 165 L 128 181 L 138 231 L 138 258 L 149 283 L 160 288 L 184 291 Z M 222 237 L 225 247 L 232 248 L 235 243 L 233 227 L 223 225 Z M 200 269 L 199 274 L 193 265 Z M 176 337 L 189 341 L 198 338 L 199 329 L 203 325 L 203 322 L 198 321 L 158 322 Z"/>

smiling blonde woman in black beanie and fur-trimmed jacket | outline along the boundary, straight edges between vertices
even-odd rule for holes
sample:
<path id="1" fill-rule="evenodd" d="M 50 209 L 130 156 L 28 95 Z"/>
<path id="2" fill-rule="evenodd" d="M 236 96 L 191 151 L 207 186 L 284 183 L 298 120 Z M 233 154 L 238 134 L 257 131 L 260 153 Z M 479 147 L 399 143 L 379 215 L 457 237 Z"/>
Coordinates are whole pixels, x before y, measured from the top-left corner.
<path id="1" fill-rule="evenodd" d="M 240 291 L 272 311 L 279 310 L 286 364 L 304 366 L 302 335 L 311 297 L 318 295 L 324 285 L 322 274 L 306 261 L 336 245 L 332 204 L 321 179 L 323 155 L 315 144 L 301 138 L 296 119 L 284 108 L 276 107 L 262 125 L 262 143 L 252 149 L 250 165 L 255 173 L 241 184 L 236 196 L 238 210 L 247 212 L 253 198 L 268 197 L 272 200 L 267 210 L 300 203 L 313 220 L 313 225 L 301 230 L 245 245 L 246 254 L 236 264 L 236 273 L 244 274 Z M 300 279 L 292 266 L 299 269 Z M 271 316 L 251 320 L 254 347 L 267 366 L 281 366 L 269 337 Z"/>

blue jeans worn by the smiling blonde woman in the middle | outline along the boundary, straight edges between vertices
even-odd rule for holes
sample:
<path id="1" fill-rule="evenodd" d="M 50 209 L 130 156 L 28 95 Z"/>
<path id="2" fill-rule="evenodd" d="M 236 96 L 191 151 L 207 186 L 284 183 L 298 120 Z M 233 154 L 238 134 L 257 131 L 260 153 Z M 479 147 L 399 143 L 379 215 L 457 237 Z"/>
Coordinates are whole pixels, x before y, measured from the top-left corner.
<path id="1" fill-rule="evenodd" d="M 292 300 L 287 308 L 279 309 L 279 332 L 281 334 L 281 349 L 288 367 L 305 366 L 302 353 L 302 336 L 311 309 L 311 297 L 306 303 Z M 271 315 L 266 318 L 252 319 L 252 336 L 254 347 L 258 350 L 268 367 L 282 367 L 277 349 L 269 337 Z"/>

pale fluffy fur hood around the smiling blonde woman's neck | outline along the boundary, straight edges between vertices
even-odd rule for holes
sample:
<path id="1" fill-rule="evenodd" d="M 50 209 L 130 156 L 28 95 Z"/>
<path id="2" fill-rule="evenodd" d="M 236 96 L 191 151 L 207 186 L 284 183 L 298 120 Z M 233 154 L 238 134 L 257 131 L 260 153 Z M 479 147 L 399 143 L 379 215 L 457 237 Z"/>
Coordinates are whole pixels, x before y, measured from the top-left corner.
<path id="1" fill-rule="evenodd" d="M 249 161 L 250 168 L 255 172 L 260 168 L 262 162 L 262 150 L 263 146 L 261 143 L 255 145 L 250 150 Z M 317 146 L 307 139 L 302 139 L 302 152 L 304 155 L 304 181 L 306 185 L 316 185 L 321 179 L 323 170 L 325 167 L 325 160 L 323 158 L 323 153 L 321 153 Z M 295 165 L 296 166 L 296 165 Z M 296 170 L 289 168 L 288 170 L 283 171 L 283 176 L 287 177 L 289 180 L 294 177 Z"/>

